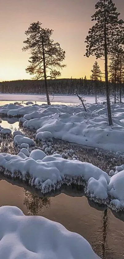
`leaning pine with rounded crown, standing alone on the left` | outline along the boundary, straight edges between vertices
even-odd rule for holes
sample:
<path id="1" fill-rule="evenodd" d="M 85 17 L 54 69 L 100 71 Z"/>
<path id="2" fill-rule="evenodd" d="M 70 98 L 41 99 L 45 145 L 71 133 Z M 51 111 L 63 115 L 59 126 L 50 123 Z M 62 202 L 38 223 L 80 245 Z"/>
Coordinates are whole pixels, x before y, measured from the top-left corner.
<path id="1" fill-rule="evenodd" d="M 22 50 L 27 50 L 31 54 L 26 72 L 34 75 L 34 79 L 44 79 L 47 104 L 50 104 L 47 79 L 55 79 L 61 75 L 58 69 L 65 67 L 62 64 L 65 51 L 58 42 L 54 43 L 51 39 L 53 30 L 42 28 L 40 22 L 31 23 L 25 34 L 27 39 L 23 43 L 26 46 Z"/>

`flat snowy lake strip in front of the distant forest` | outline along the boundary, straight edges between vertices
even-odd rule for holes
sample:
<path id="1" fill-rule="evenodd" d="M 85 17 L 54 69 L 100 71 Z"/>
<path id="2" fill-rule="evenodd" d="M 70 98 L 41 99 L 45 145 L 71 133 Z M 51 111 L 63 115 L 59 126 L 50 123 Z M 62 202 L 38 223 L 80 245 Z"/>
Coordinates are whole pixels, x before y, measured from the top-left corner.
<path id="1" fill-rule="evenodd" d="M 86 103 L 93 104 L 95 103 L 95 96 L 84 96 Z M 113 99 L 114 100 L 114 97 Z M 0 94 L 0 101 L 36 101 L 46 103 L 46 95 L 27 95 L 27 94 Z M 98 96 L 98 102 L 101 103 L 106 101 L 105 96 Z M 124 101 L 124 98 L 122 98 Z M 80 100 L 78 100 L 77 96 L 72 95 L 50 95 L 50 102 L 51 103 L 59 103 L 59 104 L 80 104 Z"/>

